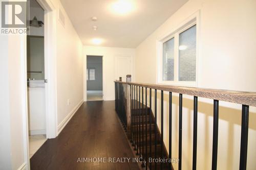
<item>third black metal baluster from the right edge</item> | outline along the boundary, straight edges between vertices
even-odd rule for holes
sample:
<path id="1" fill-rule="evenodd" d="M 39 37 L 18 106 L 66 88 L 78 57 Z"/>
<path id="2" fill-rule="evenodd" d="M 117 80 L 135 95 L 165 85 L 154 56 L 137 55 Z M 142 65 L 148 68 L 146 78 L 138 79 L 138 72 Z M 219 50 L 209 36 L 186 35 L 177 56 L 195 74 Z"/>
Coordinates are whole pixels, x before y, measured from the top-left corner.
<path id="1" fill-rule="evenodd" d="M 198 98 L 194 96 L 194 128 L 193 128 L 193 170 L 197 169 L 197 106 Z"/>

